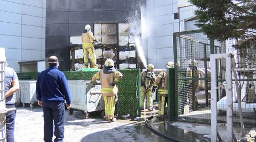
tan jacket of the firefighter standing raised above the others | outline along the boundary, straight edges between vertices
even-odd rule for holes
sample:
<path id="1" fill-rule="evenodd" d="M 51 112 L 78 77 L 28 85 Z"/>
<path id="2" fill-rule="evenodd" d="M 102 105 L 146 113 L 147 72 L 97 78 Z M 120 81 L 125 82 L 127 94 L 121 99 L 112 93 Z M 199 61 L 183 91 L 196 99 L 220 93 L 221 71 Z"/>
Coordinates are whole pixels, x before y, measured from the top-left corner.
<path id="1" fill-rule="evenodd" d="M 82 33 L 82 46 L 83 49 L 89 49 L 94 47 L 93 41 L 96 40 L 91 31 Z"/>

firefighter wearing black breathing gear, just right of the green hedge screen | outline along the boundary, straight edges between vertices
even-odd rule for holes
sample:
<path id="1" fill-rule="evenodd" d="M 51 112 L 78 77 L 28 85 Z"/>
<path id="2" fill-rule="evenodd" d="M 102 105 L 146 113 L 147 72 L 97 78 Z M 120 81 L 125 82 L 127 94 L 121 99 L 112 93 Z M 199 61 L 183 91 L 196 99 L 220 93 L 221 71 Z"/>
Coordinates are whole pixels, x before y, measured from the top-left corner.
<path id="1" fill-rule="evenodd" d="M 140 110 L 145 109 L 146 105 L 146 96 L 147 96 L 147 108 L 148 111 L 153 111 L 153 92 L 151 92 L 152 86 L 155 81 L 155 74 L 153 72 L 154 65 L 148 64 L 147 70 L 141 72 L 141 108 Z"/>

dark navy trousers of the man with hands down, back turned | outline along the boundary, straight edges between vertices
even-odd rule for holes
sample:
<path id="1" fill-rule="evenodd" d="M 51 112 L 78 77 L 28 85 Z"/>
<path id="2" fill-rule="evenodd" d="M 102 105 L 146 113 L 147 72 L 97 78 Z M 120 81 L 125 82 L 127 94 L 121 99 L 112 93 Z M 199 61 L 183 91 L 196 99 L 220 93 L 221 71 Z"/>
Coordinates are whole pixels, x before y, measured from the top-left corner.
<path id="1" fill-rule="evenodd" d="M 43 101 L 44 141 L 52 141 L 54 123 L 54 141 L 63 141 L 65 106 L 64 102 Z"/>

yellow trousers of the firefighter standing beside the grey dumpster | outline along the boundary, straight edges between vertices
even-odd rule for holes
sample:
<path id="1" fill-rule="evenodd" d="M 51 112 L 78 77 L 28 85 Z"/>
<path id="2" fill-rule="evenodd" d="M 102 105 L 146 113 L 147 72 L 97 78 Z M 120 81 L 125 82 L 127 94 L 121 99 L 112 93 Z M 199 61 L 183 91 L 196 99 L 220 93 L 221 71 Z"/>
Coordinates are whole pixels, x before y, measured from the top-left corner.
<path id="1" fill-rule="evenodd" d="M 115 105 L 118 100 L 118 96 L 111 95 L 111 96 L 103 96 L 103 100 L 105 102 L 105 115 L 107 119 L 114 119 L 115 113 Z"/>

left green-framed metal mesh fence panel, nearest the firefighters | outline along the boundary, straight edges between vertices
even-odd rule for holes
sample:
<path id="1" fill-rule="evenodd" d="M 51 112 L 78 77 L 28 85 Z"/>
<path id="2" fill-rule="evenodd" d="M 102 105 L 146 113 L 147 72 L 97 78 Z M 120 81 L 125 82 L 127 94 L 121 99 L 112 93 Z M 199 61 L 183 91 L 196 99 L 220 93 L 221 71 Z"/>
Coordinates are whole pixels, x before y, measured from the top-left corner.
<path id="1" fill-rule="evenodd" d="M 210 40 L 200 31 L 180 32 L 174 34 L 174 45 L 178 119 L 209 122 Z"/>

